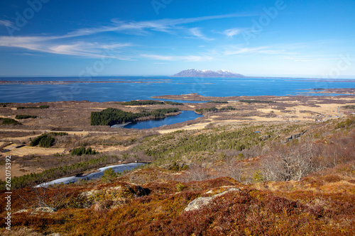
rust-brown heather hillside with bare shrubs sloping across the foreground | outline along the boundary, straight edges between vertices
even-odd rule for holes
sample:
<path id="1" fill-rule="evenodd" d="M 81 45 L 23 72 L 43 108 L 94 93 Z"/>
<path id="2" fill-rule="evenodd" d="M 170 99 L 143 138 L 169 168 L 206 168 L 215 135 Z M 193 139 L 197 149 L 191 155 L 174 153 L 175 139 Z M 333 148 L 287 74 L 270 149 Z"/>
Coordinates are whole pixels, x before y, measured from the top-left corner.
<path id="1" fill-rule="evenodd" d="M 211 126 L 165 135 L 120 130 L 107 137 L 58 137 L 55 145 L 63 147 L 127 147 L 100 154 L 107 155 L 104 164 L 124 157 L 152 164 L 108 184 L 97 180 L 13 190 L 12 230 L 1 228 L 0 234 L 354 235 L 354 117 L 306 125 Z M 43 157 L 63 166 L 93 158 Z M 33 159 L 18 157 L 18 162 Z M 197 210 L 185 211 L 195 199 L 219 193 Z M 4 225 L 5 191 L 0 195 Z M 39 212 L 41 207 L 56 211 Z"/>

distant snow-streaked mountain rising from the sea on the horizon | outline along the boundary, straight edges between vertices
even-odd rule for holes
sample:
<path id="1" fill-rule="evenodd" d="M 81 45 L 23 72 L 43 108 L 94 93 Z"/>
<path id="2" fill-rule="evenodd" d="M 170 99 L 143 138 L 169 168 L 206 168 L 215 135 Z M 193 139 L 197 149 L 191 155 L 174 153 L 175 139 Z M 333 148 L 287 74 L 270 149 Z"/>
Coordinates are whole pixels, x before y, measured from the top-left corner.
<path id="1" fill-rule="evenodd" d="M 220 69 L 214 72 L 210 69 L 186 69 L 178 74 L 174 74 L 173 77 L 222 77 L 222 78 L 241 78 L 245 77 L 242 74 L 235 74 L 229 70 Z"/>

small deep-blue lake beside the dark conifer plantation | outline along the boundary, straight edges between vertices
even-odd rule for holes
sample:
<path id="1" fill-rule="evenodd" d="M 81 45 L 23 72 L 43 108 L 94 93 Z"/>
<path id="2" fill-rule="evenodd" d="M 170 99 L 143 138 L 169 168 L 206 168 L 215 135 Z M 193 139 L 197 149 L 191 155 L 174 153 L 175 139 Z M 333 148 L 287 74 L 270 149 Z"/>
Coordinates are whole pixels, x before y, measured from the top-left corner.
<path id="1" fill-rule="evenodd" d="M 163 118 L 163 119 L 134 122 L 124 126 L 124 128 L 135 128 L 140 130 L 156 128 L 163 125 L 172 125 L 175 123 L 185 122 L 187 120 L 195 120 L 196 118 L 199 117 L 202 117 L 202 115 L 195 113 L 195 111 L 182 111 L 182 113 L 180 113 L 178 116 L 168 116 L 167 118 Z"/>

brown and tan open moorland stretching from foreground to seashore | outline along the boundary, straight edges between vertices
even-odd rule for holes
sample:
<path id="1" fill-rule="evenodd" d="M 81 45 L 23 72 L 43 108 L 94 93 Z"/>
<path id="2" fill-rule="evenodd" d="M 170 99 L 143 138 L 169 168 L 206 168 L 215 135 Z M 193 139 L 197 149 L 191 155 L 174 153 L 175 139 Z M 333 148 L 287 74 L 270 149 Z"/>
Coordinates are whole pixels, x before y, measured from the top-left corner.
<path id="1" fill-rule="evenodd" d="M 354 235 L 354 96 L 157 99 L 185 102 L 1 103 L 0 168 L 11 155 L 13 191 L 1 235 Z M 203 117 L 109 126 L 180 111 Z M 146 164 L 33 188 L 129 162 Z"/>

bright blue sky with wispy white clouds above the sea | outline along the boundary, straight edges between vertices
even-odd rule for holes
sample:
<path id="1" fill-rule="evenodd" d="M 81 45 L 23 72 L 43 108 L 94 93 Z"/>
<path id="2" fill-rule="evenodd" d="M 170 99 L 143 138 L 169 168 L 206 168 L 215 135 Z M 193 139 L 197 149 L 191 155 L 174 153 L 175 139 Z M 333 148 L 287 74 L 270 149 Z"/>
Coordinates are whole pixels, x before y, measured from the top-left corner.
<path id="1" fill-rule="evenodd" d="M 0 1 L 0 76 L 355 78 L 354 0 Z"/>

